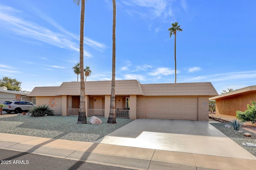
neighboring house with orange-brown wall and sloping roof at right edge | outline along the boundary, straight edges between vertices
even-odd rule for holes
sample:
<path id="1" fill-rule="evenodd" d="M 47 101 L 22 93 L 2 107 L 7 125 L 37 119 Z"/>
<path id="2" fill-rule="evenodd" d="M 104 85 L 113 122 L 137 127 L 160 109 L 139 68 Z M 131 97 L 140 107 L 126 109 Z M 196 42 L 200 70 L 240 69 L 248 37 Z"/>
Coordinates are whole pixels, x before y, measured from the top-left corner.
<path id="1" fill-rule="evenodd" d="M 216 115 L 236 117 L 236 111 L 245 111 L 246 105 L 256 101 L 256 85 L 237 89 L 228 93 L 211 97 L 216 101 Z"/>

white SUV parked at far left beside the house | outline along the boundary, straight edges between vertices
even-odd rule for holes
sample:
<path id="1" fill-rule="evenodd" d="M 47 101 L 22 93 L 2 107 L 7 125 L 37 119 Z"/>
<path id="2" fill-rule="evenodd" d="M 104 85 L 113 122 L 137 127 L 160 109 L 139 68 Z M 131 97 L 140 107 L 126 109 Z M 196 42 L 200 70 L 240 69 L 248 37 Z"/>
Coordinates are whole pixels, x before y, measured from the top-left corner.
<path id="1" fill-rule="evenodd" d="M 3 111 L 6 111 L 7 113 L 27 112 L 36 106 L 29 101 L 5 101 L 4 105 L 7 105 L 7 107 L 3 107 Z"/>

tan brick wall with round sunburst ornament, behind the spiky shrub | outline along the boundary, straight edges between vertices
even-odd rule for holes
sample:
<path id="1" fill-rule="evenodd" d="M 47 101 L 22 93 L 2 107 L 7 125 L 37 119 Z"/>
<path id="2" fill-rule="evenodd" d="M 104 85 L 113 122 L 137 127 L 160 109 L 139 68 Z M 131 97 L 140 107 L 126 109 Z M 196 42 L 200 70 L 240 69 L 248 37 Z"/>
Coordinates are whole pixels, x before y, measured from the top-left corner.
<path id="1" fill-rule="evenodd" d="M 54 101 L 54 105 L 49 105 L 50 101 Z M 36 105 L 48 105 L 54 110 L 54 115 L 62 115 L 62 97 L 36 97 Z"/>

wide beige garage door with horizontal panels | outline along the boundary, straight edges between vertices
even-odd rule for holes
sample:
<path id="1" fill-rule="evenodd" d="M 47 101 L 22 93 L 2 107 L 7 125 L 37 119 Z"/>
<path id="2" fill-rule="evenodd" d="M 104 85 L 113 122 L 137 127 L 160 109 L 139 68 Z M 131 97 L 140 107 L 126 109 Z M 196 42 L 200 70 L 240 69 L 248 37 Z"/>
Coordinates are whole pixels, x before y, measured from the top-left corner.
<path id="1" fill-rule="evenodd" d="M 146 98 L 146 118 L 198 120 L 197 98 Z"/>

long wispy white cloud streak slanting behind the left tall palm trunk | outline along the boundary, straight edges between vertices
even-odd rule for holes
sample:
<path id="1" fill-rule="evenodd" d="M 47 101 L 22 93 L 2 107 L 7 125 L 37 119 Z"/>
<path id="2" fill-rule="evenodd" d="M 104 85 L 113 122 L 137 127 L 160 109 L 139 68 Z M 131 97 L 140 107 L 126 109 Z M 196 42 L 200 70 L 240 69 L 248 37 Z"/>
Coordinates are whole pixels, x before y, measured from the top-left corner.
<path id="1" fill-rule="evenodd" d="M 38 11 L 41 18 L 58 28 L 62 33 L 53 32 L 48 28 L 44 28 L 36 24 L 35 22 L 25 20 L 24 18 L 20 17 L 19 13 L 21 12 L 14 8 L 0 5 L 0 21 L 2 23 L 1 27 L 11 31 L 12 34 L 18 34 L 22 37 L 52 44 L 60 48 L 79 51 L 79 36 L 75 36 L 72 33 L 66 31 L 60 25 L 55 23 L 51 18 Z M 106 48 L 106 45 L 91 40 L 87 37 L 84 38 L 84 43 L 101 52 Z M 92 55 L 88 51 L 84 50 L 84 56 L 91 57 Z"/>

